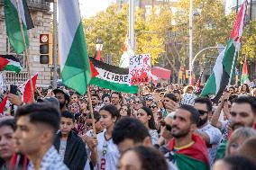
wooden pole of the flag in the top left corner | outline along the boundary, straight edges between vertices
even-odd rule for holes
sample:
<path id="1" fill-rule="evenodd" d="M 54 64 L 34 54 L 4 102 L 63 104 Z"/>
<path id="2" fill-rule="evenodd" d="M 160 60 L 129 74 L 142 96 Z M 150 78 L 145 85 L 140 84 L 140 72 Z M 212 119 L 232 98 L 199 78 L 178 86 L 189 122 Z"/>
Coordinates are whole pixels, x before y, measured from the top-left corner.
<path id="1" fill-rule="evenodd" d="M 31 70 L 30 70 L 30 62 L 29 62 L 29 56 L 28 56 L 28 51 L 27 51 L 27 44 L 26 44 L 26 40 L 25 40 L 25 34 L 24 34 L 24 30 L 23 30 L 23 22 L 22 22 L 22 16 L 20 13 L 20 4 L 19 4 L 20 0 L 16 0 L 16 4 L 17 4 L 17 9 L 18 9 L 18 16 L 19 16 L 19 22 L 20 22 L 20 28 L 22 31 L 22 35 L 23 35 L 23 44 L 25 47 L 25 58 L 26 58 L 26 63 L 27 63 L 27 68 L 28 68 L 28 74 L 29 74 L 29 79 L 30 79 L 30 86 L 31 86 L 31 91 L 32 91 L 32 100 L 34 101 L 34 92 L 33 92 L 33 88 L 32 88 L 32 74 L 31 74 Z"/>

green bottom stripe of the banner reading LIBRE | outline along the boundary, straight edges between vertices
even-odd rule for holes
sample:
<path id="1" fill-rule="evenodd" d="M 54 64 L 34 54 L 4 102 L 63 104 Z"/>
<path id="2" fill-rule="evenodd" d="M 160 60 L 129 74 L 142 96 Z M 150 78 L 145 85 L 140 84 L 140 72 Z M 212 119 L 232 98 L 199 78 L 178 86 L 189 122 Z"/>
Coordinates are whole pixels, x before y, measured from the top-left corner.
<path id="1" fill-rule="evenodd" d="M 138 87 L 136 85 L 117 84 L 114 82 L 106 81 L 97 77 L 93 77 L 90 82 L 91 85 L 97 85 L 102 88 L 111 89 L 116 92 L 123 92 L 127 94 L 137 94 Z"/>

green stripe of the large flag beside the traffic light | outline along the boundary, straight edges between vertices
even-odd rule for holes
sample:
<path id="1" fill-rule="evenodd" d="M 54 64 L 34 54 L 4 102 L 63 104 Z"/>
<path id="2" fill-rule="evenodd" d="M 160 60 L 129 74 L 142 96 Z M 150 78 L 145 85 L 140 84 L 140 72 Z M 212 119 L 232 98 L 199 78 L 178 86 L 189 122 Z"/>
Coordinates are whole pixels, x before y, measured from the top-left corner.
<path id="1" fill-rule="evenodd" d="M 76 90 L 79 94 L 87 92 L 87 85 L 89 85 L 91 79 L 91 70 L 82 22 L 78 24 L 61 77 L 64 85 Z"/>

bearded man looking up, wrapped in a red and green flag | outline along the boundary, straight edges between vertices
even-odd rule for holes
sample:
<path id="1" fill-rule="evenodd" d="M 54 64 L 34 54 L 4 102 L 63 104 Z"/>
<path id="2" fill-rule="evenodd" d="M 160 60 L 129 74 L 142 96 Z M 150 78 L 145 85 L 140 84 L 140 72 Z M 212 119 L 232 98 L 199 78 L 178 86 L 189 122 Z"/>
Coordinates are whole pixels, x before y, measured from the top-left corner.
<path id="1" fill-rule="evenodd" d="M 199 112 L 193 106 L 181 105 L 172 121 L 169 141 L 169 153 L 166 156 L 174 162 L 179 170 L 208 170 L 209 161 L 206 143 L 193 134 L 197 130 Z"/>

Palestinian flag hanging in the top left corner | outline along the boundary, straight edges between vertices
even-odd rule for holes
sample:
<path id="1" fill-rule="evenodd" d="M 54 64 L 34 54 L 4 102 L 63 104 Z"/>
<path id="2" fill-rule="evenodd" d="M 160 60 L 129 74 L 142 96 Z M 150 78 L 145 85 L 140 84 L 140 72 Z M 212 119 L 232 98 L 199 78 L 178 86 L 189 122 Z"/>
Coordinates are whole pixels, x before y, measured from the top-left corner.
<path id="1" fill-rule="evenodd" d="M 26 47 L 29 47 L 29 37 L 27 30 L 33 28 L 32 18 L 26 0 L 19 0 L 19 13 L 23 22 L 23 31 Z M 16 0 L 5 0 L 5 25 L 10 44 L 14 47 L 17 54 L 23 53 L 25 46 L 23 34 L 20 28 L 18 6 Z"/>

